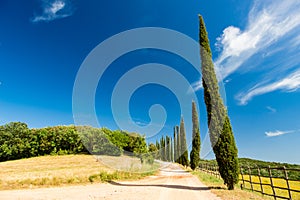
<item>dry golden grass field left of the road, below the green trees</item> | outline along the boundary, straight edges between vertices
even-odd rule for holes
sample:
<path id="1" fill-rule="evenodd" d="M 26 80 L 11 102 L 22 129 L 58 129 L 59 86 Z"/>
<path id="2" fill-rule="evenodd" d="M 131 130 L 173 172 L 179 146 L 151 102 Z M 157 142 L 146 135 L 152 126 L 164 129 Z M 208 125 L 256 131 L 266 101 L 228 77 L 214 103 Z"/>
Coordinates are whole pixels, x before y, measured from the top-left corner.
<path id="1" fill-rule="evenodd" d="M 65 155 L 7 161 L 0 162 L 0 190 L 139 179 L 156 173 L 158 168 L 158 164 L 141 165 L 138 158 L 127 156 L 96 159 L 92 155 Z"/>

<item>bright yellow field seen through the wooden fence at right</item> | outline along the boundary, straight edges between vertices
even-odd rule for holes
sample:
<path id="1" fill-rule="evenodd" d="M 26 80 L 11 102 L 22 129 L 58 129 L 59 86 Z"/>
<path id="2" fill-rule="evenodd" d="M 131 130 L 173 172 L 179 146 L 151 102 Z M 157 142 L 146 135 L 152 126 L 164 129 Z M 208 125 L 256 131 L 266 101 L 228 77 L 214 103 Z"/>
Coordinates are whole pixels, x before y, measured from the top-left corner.
<path id="1" fill-rule="evenodd" d="M 258 176 L 251 176 L 251 179 L 252 179 L 252 182 L 259 183 Z M 250 180 L 249 175 L 244 175 L 244 180 Z M 262 180 L 262 183 L 271 184 L 270 178 L 262 177 L 261 180 Z M 273 178 L 272 180 L 273 180 L 274 186 L 287 188 L 286 180 L 280 179 L 280 178 Z M 240 184 L 241 183 L 242 182 L 240 182 Z M 300 190 L 300 181 L 289 181 L 289 185 L 290 185 L 291 189 Z M 245 187 L 248 189 L 251 189 L 250 183 L 245 182 Z M 258 184 L 253 184 L 253 189 L 261 191 L 261 186 Z M 264 191 L 264 193 L 267 193 L 267 194 L 273 194 L 273 190 L 272 190 L 271 186 L 264 185 L 263 191 Z M 278 196 L 289 197 L 287 190 L 281 190 L 281 189 L 276 188 L 275 193 Z M 300 199 L 300 193 L 291 192 L 291 194 L 292 194 L 292 199 Z"/>

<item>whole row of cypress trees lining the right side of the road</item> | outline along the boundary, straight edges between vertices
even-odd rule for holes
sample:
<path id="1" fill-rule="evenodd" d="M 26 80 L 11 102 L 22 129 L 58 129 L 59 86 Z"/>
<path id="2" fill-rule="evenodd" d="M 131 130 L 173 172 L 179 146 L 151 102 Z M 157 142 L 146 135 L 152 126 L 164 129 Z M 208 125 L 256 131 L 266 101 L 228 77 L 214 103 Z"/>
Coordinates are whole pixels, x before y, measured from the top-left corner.
<path id="1" fill-rule="evenodd" d="M 231 128 L 227 109 L 219 92 L 218 80 L 212 60 L 208 34 L 206 31 L 203 17 L 199 15 L 199 45 L 201 56 L 202 85 L 204 88 L 204 101 L 207 111 L 207 124 L 211 146 L 213 148 L 216 161 L 219 166 L 219 172 L 229 190 L 234 189 L 238 182 L 238 150 L 236 147 L 234 135 Z M 184 128 L 184 119 L 181 117 L 180 126 L 174 127 L 174 152 L 171 154 L 172 145 L 170 138 L 162 138 L 160 147 L 164 147 L 162 152 L 163 160 L 175 161 L 184 166 L 190 164 L 194 170 L 200 162 L 200 130 L 199 119 L 195 102 L 192 103 L 192 151 L 190 154 L 191 162 L 188 160 L 188 150 L 186 144 L 186 134 Z M 172 140 L 172 139 L 171 139 Z M 164 157 L 166 155 L 169 155 Z M 174 155 L 174 159 L 171 157 Z"/>

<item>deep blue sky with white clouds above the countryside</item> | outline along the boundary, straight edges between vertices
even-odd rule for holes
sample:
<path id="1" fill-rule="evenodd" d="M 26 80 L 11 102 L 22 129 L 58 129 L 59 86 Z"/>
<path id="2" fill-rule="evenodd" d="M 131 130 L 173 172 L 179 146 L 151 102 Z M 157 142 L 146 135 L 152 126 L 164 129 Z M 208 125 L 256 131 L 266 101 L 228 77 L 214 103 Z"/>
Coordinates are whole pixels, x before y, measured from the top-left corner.
<path id="1" fill-rule="evenodd" d="M 74 124 L 74 82 L 83 61 L 97 45 L 115 34 L 141 27 L 167 28 L 198 41 L 200 13 L 225 87 L 239 156 L 300 163 L 299 10 L 297 0 L 2 0 L 0 124 Z M 203 90 L 198 87 L 201 75 L 183 58 L 157 49 L 122 55 L 104 72 L 95 96 L 101 126 L 119 128 L 111 109 L 115 85 L 124 74 L 147 63 L 171 67 L 194 87 L 204 139 L 207 125 Z M 165 79 L 176 82 L 171 76 Z M 184 94 L 189 95 L 186 91 Z M 148 140 L 172 134 L 182 114 L 179 101 L 166 86 L 141 86 L 131 96 L 128 107 L 133 122 L 128 123 L 146 126 L 151 120 L 151 106 L 161 104 L 166 123 Z M 153 116 L 161 117 L 159 113 Z M 190 119 L 185 119 L 189 131 Z M 204 143 L 204 147 L 209 146 Z"/>

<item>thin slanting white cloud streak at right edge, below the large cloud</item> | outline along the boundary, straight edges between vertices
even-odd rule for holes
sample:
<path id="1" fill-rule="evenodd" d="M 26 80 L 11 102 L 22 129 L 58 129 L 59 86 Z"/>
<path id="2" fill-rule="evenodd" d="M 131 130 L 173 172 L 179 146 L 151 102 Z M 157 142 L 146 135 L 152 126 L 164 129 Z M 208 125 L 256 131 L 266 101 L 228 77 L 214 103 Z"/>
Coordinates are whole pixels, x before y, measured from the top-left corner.
<path id="1" fill-rule="evenodd" d="M 286 76 L 285 78 L 269 84 L 259 84 L 248 90 L 247 92 L 237 95 L 241 105 L 246 105 L 253 97 L 275 90 L 283 90 L 288 92 L 296 91 L 300 88 L 300 69 Z"/>

